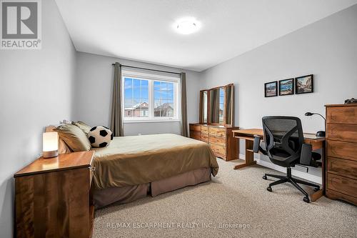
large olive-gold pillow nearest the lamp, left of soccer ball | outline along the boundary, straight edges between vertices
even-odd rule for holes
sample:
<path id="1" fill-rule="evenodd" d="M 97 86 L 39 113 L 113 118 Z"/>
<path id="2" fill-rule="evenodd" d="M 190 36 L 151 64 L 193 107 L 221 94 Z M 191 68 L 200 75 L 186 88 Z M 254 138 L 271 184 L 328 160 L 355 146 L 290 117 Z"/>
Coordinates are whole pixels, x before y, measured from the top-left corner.
<path id="1" fill-rule="evenodd" d="M 75 125 L 61 124 L 54 129 L 54 131 L 59 133 L 59 137 L 63 139 L 74 152 L 85 152 L 91 149 L 91 144 L 86 134 Z"/>

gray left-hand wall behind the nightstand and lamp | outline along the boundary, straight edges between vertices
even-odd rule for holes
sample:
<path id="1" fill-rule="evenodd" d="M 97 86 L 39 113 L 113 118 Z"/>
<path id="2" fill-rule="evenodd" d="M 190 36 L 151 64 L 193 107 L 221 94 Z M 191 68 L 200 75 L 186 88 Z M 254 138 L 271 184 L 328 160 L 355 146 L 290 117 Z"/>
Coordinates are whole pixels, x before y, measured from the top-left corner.
<path id="1" fill-rule="evenodd" d="M 42 1 L 41 50 L 0 50 L 0 237 L 13 233 L 13 174 L 38 157 L 46 125 L 71 118 L 75 58 L 54 0 Z"/>

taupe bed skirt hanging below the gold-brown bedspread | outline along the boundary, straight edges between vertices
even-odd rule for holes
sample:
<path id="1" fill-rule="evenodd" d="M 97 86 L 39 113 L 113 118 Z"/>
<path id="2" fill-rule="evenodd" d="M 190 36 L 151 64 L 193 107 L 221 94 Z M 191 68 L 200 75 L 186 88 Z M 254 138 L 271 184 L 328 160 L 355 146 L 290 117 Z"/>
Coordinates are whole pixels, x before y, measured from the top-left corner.
<path id="1" fill-rule="evenodd" d="M 195 169 L 159 181 L 128 187 L 111 187 L 94 190 L 93 200 L 96 209 L 117 202 L 119 204 L 133 202 L 146 196 L 156 197 L 186 186 L 192 186 L 211 180 L 211 168 Z"/>

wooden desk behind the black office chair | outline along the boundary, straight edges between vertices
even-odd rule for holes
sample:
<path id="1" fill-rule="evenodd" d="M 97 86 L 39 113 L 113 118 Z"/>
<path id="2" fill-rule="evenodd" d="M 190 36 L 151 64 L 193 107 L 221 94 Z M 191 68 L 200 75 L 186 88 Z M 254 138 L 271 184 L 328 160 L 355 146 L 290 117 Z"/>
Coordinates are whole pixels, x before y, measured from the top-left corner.
<path id="1" fill-rule="evenodd" d="M 253 152 L 254 136 L 263 138 L 263 129 L 238 129 L 233 130 L 232 133 L 233 137 L 246 140 L 246 160 L 244 164 L 237 164 L 234 169 L 241 169 L 256 164 Z M 311 144 L 313 150 L 322 149 L 322 188 L 311 195 L 311 201 L 315 202 L 325 191 L 325 137 L 316 137 L 315 134 L 311 133 L 304 133 L 303 137 L 304 143 Z"/>

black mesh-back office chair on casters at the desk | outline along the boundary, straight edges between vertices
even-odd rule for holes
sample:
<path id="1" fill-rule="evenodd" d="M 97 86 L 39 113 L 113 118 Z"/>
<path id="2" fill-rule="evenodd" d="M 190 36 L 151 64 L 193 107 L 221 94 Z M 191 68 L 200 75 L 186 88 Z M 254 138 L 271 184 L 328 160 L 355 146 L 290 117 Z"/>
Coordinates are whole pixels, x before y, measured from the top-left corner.
<path id="1" fill-rule="evenodd" d="M 260 137 L 254 138 L 253 151 L 260 151 L 268 155 L 273 164 L 286 167 L 286 176 L 264 174 L 263 179 L 267 179 L 267 177 L 279 179 L 269 184 L 267 190 L 272 192 L 272 186 L 289 182 L 305 195 L 303 202 L 310 202 L 307 192 L 298 184 L 315 187 L 315 191 L 318 191 L 320 187 L 316 184 L 293 178 L 291 176 L 291 167 L 295 167 L 296 164 L 318 167 L 319 163 L 316 160 L 321 159 L 321 155 L 312 152 L 311 144 L 303 144 L 303 129 L 300 119 L 293 116 L 264 116 L 263 132 L 263 142 L 261 142 Z"/>

